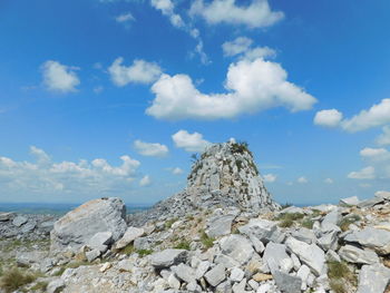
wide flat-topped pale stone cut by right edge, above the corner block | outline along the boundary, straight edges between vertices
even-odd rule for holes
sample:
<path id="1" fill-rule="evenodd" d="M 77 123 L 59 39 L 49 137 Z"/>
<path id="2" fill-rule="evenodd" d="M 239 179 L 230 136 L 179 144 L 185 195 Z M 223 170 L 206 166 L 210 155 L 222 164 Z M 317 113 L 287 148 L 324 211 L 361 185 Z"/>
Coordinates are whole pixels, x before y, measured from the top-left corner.
<path id="1" fill-rule="evenodd" d="M 367 227 L 362 231 L 354 231 L 344 237 L 347 242 L 355 242 L 364 247 L 374 250 L 379 254 L 390 253 L 390 232 Z"/>

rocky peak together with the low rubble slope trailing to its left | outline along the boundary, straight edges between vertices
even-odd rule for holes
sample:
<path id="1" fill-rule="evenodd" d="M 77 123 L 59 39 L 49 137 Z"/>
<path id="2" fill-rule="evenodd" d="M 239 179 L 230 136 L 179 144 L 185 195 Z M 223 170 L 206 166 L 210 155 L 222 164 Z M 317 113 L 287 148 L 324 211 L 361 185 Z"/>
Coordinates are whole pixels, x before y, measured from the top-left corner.
<path id="1" fill-rule="evenodd" d="M 139 226 L 162 216 L 179 217 L 213 206 L 235 206 L 252 214 L 280 208 L 265 188 L 247 144 L 215 144 L 194 159 L 183 192 L 129 216 L 128 222 Z"/>

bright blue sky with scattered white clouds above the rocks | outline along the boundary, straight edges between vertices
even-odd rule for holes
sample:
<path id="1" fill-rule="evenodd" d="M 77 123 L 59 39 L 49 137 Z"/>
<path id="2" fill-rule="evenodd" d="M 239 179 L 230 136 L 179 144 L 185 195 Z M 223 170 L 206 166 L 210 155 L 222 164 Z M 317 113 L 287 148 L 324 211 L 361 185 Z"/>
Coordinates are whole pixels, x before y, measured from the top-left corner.
<path id="1" fill-rule="evenodd" d="M 247 141 L 280 203 L 390 189 L 388 0 L 2 0 L 0 202 L 153 204 Z"/>

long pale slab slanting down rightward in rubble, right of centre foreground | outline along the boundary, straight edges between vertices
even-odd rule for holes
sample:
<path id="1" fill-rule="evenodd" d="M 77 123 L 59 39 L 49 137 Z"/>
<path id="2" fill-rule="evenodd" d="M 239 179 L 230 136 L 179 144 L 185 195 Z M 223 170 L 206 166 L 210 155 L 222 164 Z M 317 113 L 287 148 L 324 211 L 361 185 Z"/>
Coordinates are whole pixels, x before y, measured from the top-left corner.
<path id="1" fill-rule="evenodd" d="M 287 250 L 295 253 L 302 263 L 306 264 L 315 275 L 326 272 L 325 253 L 315 244 L 308 244 L 289 237 L 285 242 Z"/>

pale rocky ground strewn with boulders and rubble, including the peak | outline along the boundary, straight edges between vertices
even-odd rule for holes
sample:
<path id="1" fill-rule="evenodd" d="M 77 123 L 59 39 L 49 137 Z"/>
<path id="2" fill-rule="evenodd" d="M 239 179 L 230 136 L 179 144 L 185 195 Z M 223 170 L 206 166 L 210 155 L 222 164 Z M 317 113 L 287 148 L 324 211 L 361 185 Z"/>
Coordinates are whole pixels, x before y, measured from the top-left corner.
<path id="1" fill-rule="evenodd" d="M 220 149 L 195 163 L 192 189 L 181 193 L 189 199 L 136 216 L 113 197 L 58 221 L 0 213 L 0 292 L 390 293 L 390 193 L 280 207 L 245 149 Z M 245 167 L 233 169 L 243 156 Z M 243 188 L 252 180 L 257 187 Z"/>

